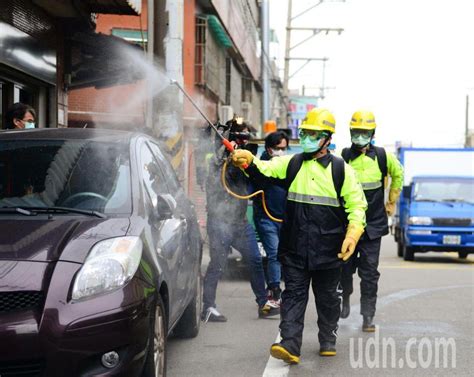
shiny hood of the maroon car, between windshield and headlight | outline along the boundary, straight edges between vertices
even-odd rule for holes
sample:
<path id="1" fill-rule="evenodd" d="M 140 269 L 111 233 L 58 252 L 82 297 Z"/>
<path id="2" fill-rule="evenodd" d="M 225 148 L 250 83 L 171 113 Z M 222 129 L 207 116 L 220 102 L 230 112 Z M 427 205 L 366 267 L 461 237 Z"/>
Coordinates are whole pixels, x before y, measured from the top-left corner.
<path id="1" fill-rule="evenodd" d="M 1 219 L 0 260 L 83 263 L 98 241 L 127 234 L 129 218 Z"/>

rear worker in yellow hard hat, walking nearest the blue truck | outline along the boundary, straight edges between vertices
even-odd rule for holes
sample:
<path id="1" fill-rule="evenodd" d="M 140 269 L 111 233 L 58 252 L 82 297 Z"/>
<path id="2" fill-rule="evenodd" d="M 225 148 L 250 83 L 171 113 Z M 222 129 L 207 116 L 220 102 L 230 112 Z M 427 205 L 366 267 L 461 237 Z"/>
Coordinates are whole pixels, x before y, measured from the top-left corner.
<path id="1" fill-rule="evenodd" d="M 354 168 L 368 202 L 367 226 L 357 244 L 356 252 L 342 269 L 343 300 L 341 318 L 350 313 L 352 275 L 358 269 L 360 282 L 360 313 L 362 330 L 375 331 L 373 318 L 377 301 L 379 254 L 382 236 L 388 234 L 387 215 L 392 216 L 403 184 L 403 168 L 397 158 L 384 148 L 372 144 L 377 124 L 370 111 L 356 111 L 350 121 L 350 148 L 342 151 L 344 160 Z M 384 205 L 385 178 L 391 177 L 388 201 Z"/>

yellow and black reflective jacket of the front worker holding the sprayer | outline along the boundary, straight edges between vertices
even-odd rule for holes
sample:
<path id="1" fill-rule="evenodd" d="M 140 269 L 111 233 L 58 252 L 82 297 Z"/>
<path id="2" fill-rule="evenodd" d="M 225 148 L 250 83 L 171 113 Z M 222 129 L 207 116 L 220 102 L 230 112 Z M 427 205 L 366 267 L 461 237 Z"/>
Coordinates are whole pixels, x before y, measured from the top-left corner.
<path id="1" fill-rule="evenodd" d="M 253 163 L 263 175 L 285 179 L 292 157 L 255 158 Z M 367 202 L 354 170 L 345 163 L 337 197 L 331 170 L 337 158 L 327 154 L 303 161 L 289 186 L 278 251 L 282 264 L 310 270 L 338 267 L 347 224 L 365 226 Z"/>

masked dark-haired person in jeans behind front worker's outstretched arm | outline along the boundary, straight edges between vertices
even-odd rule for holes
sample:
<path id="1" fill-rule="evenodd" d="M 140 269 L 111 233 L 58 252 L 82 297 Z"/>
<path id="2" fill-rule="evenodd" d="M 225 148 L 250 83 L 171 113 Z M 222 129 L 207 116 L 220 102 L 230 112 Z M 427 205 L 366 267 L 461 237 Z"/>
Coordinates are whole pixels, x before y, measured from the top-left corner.
<path id="1" fill-rule="evenodd" d="M 288 135 L 283 131 L 272 132 L 265 138 L 265 150 L 260 159 L 271 160 L 274 157 L 284 156 L 288 149 Z M 286 189 L 274 179 L 265 177 L 255 183 L 257 189 L 265 192 L 265 204 L 269 214 L 264 210 L 262 197 L 253 200 L 253 219 L 260 242 L 268 258 L 267 286 L 270 298 L 280 302 L 281 266 L 278 261 L 278 239 L 280 237 L 281 221 L 285 212 Z M 272 218 L 269 217 L 272 216 Z"/>

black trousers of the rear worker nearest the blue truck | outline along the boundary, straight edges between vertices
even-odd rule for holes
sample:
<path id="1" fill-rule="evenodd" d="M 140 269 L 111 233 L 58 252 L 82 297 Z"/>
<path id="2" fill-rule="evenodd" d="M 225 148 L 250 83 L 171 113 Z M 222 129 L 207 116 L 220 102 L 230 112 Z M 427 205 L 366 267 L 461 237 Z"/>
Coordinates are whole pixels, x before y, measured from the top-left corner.
<path id="1" fill-rule="evenodd" d="M 352 257 L 342 267 L 341 286 L 343 294 L 354 291 L 353 274 L 357 270 L 360 277 L 360 314 L 373 317 L 377 303 L 380 272 L 378 271 L 380 244 L 382 238 L 360 240 Z"/>

